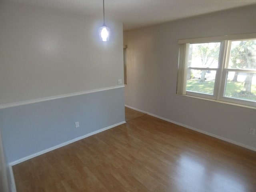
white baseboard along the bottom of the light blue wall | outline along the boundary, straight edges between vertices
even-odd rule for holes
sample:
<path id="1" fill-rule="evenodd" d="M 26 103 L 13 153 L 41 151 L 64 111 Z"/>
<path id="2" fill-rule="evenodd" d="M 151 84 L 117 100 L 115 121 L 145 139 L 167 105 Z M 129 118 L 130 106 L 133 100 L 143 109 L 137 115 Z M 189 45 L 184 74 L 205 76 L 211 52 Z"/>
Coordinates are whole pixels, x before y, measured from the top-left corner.
<path id="1" fill-rule="evenodd" d="M 113 127 L 116 127 L 116 126 L 121 125 L 121 124 L 124 124 L 124 123 L 126 123 L 126 122 L 123 121 L 123 122 L 120 122 L 120 123 L 117 123 L 117 124 L 114 124 L 114 125 L 111 125 L 111 126 L 102 128 L 102 129 L 100 129 L 100 130 L 96 130 L 96 131 L 94 131 L 94 132 L 88 133 L 88 134 L 86 134 L 86 135 L 84 135 L 84 136 L 80 136 L 80 137 L 78 137 L 78 138 L 74 138 L 74 139 L 69 140 L 69 141 L 66 141 L 66 142 L 64 142 L 64 143 L 62 143 L 62 144 L 58 144 L 58 145 L 53 146 L 53 147 L 51 147 L 51 148 L 42 150 L 42 151 L 37 152 L 37 153 L 35 153 L 35 154 L 32 154 L 32 155 L 26 156 L 26 157 L 24 157 L 24 158 L 18 159 L 18 160 L 16 160 L 16 161 L 10 162 L 9 165 L 10 165 L 10 167 L 11 167 L 11 166 L 14 166 L 14 165 L 16 165 L 16 164 L 19 164 L 19 163 L 21 163 L 21 162 L 24 162 L 24 161 L 26 161 L 26 160 L 29 160 L 29 159 L 31 159 L 31 158 L 34 158 L 34 157 L 36 157 L 36 156 L 42 155 L 42 154 L 44 154 L 44 153 L 50 152 L 50 151 L 52 151 L 52 150 L 58 149 L 58 148 L 63 147 L 63 146 L 65 146 L 65 145 L 71 144 L 71 143 L 76 142 L 76 141 L 78 141 L 78 140 L 84 139 L 84 138 L 86 138 L 86 137 L 92 136 L 92 135 L 94 135 L 94 134 L 97 134 L 97 133 L 100 133 L 100 132 L 102 132 L 102 131 L 111 129 L 111 128 L 113 128 Z"/>

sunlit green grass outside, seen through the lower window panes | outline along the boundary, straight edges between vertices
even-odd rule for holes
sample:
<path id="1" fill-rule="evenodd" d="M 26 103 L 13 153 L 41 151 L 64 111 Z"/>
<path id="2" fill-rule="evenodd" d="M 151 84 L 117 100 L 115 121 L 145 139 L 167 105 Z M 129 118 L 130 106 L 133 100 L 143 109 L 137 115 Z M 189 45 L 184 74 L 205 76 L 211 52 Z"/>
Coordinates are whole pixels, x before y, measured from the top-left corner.
<path id="1" fill-rule="evenodd" d="M 243 82 L 228 81 L 226 85 L 225 96 L 238 98 L 241 95 L 240 92 L 243 90 L 243 87 L 244 87 Z M 205 82 L 200 82 L 200 80 L 198 79 L 190 79 L 187 81 L 186 90 L 213 95 L 214 81 L 206 80 Z M 254 96 L 252 95 L 249 98 L 246 97 L 246 99 L 256 100 L 256 85 L 252 85 L 251 93 L 254 94 Z M 245 98 L 245 97 L 242 97 L 242 98 Z"/>

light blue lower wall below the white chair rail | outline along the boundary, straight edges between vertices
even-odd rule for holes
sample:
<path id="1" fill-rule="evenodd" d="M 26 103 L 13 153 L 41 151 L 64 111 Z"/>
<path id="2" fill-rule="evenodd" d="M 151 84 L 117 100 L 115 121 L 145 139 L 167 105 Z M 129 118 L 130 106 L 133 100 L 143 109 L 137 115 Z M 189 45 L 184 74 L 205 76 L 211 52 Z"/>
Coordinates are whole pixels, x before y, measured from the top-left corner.
<path id="1" fill-rule="evenodd" d="M 124 88 L 0 110 L 8 163 L 123 121 Z"/>

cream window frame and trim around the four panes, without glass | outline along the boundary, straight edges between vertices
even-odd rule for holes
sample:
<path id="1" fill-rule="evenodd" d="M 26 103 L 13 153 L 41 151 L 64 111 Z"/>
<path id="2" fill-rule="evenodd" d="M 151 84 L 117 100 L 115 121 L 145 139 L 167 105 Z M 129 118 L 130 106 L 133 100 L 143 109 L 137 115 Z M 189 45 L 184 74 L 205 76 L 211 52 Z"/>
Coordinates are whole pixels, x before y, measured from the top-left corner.
<path id="1" fill-rule="evenodd" d="M 229 104 L 238 104 L 242 106 L 250 106 L 256 108 L 256 102 L 250 100 L 242 100 L 238 98 L 225 97 L 225 88 L 228 72 L 230 71 L 240 71 L 240 72 L 249 72 L 256 74 L 255 70 L 244 70 L 244 69 L 231 69 L 228 68 L 228 62 L 230 58 L 230 50 L 232 41 L 239 40 L 256 40 L 256 33 L 252 34 L 239 34 L 239 35 L 228 35 L 228 36 L 216 36 L 216 37 L 205 37 L 205 38 L 193 38 L 193 39 L 182 39 L 178 40 L 179 44 L 179 59 L 178 59 L 178 79 L 177 79 L 177 90 L 176 93 L 179 95 L 192 96 L 202 99 L 210 99 L 218 102 L 225 102 Z M 216 70 L 216 77 L 214 83 L 214 92 L 213 95 L 190 92 L 186 91 L 186 74 L 189 69 L 198 69 L 203 70 L 206 68 L 198 67 L 188 67 L 188 55 L 189 55 L 189 46 L 190 44 L 197 43 L 211 43 L 211 42 L 220 42 L 220 53 L 218 68 L 207 68 L 207 70 Z"/>

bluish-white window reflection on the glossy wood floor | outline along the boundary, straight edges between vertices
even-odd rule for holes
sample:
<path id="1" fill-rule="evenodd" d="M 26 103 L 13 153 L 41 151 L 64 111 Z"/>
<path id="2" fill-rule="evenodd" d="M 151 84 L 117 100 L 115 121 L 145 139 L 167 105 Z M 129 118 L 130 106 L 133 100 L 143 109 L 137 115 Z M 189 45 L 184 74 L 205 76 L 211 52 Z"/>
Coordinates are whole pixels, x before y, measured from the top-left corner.
<path id="1" fill-rule="evenodd" d="M 186 192 L 240 192 L 244 183 L 232 170 L 214 166 L 210 160 L 182 155 L 177 168 L 178 185 Z"/>

